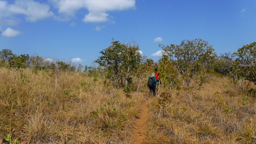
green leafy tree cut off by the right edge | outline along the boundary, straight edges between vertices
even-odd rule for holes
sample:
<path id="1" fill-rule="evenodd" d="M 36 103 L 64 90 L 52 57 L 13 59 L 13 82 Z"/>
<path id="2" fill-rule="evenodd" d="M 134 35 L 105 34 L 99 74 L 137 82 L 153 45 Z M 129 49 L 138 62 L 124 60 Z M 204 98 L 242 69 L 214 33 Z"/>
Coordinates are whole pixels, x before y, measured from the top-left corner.
<path id="1" fill-rule="evenodd" d="M 256 42 L 244 45 L 237 52 L 234 71 L 244 79 L 256 84 Z"/>

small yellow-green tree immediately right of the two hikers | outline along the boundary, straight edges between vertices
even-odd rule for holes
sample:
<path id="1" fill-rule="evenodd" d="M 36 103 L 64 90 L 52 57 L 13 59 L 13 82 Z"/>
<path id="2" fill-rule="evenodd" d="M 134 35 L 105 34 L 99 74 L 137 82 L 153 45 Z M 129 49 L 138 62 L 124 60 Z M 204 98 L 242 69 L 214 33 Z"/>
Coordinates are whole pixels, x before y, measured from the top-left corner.
<path id="1" fill-rule="evenodd" d="M 164 86 L 171 87 L 178 78 L 178 71 L 176 71 L 172 61 L 168 59 L 167 55 L 163 55 L 160 60 L 158 73 L 161 76 L 161 81 Z"/>

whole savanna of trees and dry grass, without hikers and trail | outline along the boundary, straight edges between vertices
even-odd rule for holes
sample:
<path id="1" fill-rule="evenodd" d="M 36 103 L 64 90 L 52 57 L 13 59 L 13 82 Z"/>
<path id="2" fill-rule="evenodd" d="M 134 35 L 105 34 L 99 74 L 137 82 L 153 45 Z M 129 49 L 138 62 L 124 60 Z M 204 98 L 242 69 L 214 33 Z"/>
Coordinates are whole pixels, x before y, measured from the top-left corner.
<path id="1" fill-rule="evenodd" d="M 97 67 L 2 49 L 0 144 L 133 144 L 144 103 L 145 144 L 256 144 L 256 42 L 221 55 L 202 39 L 159 47 L 154 62 L 112 41 Z"/>

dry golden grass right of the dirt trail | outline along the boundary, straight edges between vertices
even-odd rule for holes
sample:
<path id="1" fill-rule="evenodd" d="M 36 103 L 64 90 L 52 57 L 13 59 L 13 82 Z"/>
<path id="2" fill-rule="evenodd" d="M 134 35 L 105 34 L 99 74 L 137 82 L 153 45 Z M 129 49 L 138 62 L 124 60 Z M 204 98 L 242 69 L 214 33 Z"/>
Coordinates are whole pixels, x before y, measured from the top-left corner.
<path id="1" fill-rule="evenodd" d="M 214 77 L 192 103 L 176 90 L 169 91 L 164 110 L 158 98 L 152 99 L 146 143 L 256 144 L 256 98 L 247 91 L 234 89 L 226 77 Z"/>

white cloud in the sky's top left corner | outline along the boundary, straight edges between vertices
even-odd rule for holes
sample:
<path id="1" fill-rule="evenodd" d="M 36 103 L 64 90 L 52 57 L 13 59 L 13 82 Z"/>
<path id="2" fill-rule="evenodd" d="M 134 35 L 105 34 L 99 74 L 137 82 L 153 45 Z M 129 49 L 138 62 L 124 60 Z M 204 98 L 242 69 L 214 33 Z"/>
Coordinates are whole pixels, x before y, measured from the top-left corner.
<path id="1" fill-rule="evenodd" d="M 50 6 L 34 0 L 15 0 L 14 4 L 8 4 L 0 0 L 0 21 L 2 24 L 17 24 L 16 15 L 24 15 L 30 22 L 54 17 Z"/>

